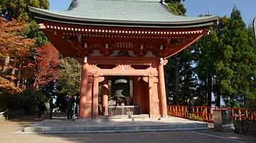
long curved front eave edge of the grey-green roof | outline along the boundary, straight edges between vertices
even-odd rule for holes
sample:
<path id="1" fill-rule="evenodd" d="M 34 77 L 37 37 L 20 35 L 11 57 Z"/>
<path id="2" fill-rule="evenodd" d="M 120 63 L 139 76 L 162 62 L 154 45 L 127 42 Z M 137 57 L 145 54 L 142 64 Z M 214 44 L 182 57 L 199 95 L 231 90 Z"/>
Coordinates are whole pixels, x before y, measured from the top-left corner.
<path id="1" fill-rule="evenodd" d="M 33 13 L 38 20 L 52 21 L 66 24 L 78 25 L 98 25 L 114 27 L 135 27 L 135 28 L 198 28 L 213 25 L 219 16 L 210 16 L 200 20 L 193 21 L 117 21 L 108 19 L 78 18 L 71 16 L 62 16 L 55 13 L 43 11 L 40 8 L 28 6 L 29 11 Z M 184 16 L 185 17 L 185 16 Z"/>

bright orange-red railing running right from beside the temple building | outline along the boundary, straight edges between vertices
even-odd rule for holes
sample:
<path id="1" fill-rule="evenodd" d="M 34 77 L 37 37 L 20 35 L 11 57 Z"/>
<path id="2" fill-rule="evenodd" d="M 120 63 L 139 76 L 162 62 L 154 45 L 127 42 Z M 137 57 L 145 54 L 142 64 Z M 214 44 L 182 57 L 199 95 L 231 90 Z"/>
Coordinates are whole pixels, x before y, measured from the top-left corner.
<path id="1" fill-rule="evenodd" d="M 213 110 L 227 109 L 233 111 L 234 120 L 256 120 L 256 113 L 249 113 L 247 108 L 217 108 L 217 107 L 203 107 L 194 106 L 193 115 L 201 118 L 206 122 L 213 122 Z M 168 105 L 168 115 L 173 115 L 180 118 L 188 118 L 188 105 Z"/>

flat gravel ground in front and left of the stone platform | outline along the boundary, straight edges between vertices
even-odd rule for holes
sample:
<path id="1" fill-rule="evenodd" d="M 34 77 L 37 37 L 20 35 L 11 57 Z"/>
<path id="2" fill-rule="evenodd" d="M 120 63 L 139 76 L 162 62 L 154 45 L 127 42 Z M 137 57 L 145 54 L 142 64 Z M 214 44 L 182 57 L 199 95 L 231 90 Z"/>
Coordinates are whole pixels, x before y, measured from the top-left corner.
<path id="1" fill-rule="evenodd" d="M 0 142 L 255 142 L 256 137 L 213 130 L 178 132 L 131 132 L 102 134 L 15 135 L 18 130 L 40 122 L 36 115 L 0 122 Z M 48 115 L 46 115 L 48 118 Z"/>

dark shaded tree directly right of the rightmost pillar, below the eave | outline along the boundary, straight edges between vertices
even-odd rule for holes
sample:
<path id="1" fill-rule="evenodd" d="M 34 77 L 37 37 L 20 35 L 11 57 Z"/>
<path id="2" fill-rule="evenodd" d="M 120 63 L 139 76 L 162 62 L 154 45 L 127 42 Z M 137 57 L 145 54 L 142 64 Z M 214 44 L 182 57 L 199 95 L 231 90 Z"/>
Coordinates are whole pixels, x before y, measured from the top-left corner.
<path id="1" fill-rule="evenodd" d="M 191 63 L 191 48 L 170 57 L 165 67 L 166 88 L 175 105 L 186 105 L 188 98 L 193 98 L 195 75 Z"/>

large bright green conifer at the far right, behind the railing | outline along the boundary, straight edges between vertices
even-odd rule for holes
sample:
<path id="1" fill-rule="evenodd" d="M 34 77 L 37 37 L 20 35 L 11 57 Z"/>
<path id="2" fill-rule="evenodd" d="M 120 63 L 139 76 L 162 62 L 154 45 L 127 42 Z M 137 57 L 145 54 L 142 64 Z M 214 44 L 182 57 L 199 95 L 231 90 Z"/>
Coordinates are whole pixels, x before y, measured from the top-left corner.
<path id="1" fill-rule="evenodd" d="M 245 27 L 240 11 L 233 7 L 230 18 L 220 18 L 221 59 L 216 69 L 226 105 L 240 107 L 255 98 L 255 43 L 250 30 Z"/>

